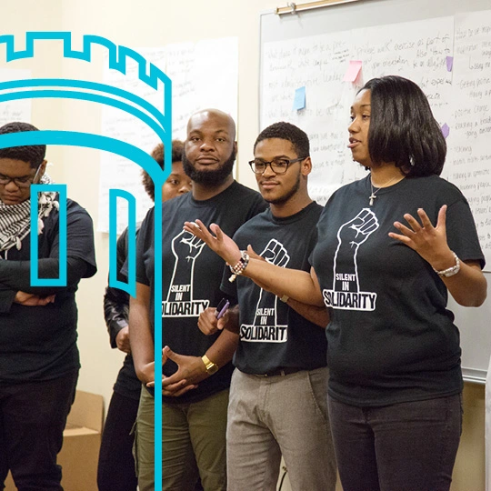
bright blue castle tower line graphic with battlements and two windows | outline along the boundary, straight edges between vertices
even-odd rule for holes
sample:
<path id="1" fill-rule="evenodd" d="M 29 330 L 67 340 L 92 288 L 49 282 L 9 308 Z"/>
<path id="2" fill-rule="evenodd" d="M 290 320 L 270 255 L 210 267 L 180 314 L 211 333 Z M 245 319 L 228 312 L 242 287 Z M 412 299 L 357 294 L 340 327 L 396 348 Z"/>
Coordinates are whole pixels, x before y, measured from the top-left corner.
<path id="1" fill-rule="evenodd" d="M 25 49 L 15 50 L 14 35 L 0 35 L 0 45 L 5 45 L 6 62 L 32 58 L 35 45 L 39 43 L 61 42 L 63 55 L 84 62 L 91 62 L 93 46 L 103 46 L 108 53 L 109 68 L 126 75 L 126 63 L 133 60 L 138 65 L 138 78 L 157 91 L 163 86 L 163 108 L 159 110 L 145 99 L 119 87 L 84 80 L 65 78 L 40 78 L 12 80 L 0 83 L 0 103 L 20 99 L 35 98 L 71 98 L 110 105 L 130 115 L 134 115 L 151 128 L 165 146 L 164 169 L 143 150 L 126 142 L 104 135 L 94 135 L 73 131 L 40 130 L 8 135 L 0 135 L 0 148 L 19 145 L 75 145 L 105 150 L 140 165 L 152 178 L 155 189 L 164 185 L 170 174 L 172 162 L 172 82 L 155 65 L 148 63 L 144 56 L 123 46 L 115 45 L 109 39 L 98 35 L 84 35 L 80 51 L 72 47 L 70 32 L 27 32 Z M 58 278 L 38 277 L 37 241 L 31 240 L 31 284 L 33 286 L 66 285 L 66 185 L 31 186 L 31 230 L 37 230 L 37 195 L 39 192 L 57 192 L 60 201 L 60 270 Z M 109 285 L 125 290 L 135 296 L 135 196 L 121 189 L 109 191 Z M 128 283 L 116 279 L 116 200 L 128 202 Z M 34 204 L 34 205 L 33 205 Z M 155 305 L 162 301 L 162 195 L 155 193 Z M 155 326 L 161 326 L 162 318 L 155 309 Z M 162 483 L 162 331 L 155 328 L 155 489 L 161 489 Z"/>

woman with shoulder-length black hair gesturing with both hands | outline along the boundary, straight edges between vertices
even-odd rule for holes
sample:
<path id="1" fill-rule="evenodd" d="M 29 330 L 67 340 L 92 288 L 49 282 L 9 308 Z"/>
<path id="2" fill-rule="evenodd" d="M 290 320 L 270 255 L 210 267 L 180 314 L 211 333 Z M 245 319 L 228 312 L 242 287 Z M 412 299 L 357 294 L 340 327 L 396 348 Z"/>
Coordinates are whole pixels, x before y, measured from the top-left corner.
<path id="1" fill-rule="evenodd" d="M 369 174 L 331 196 L 311 274 L 250 259 L 265 288 L 326 305 L 328 403 L 344 491 L 443 491 L 462 429 L 461 306 L 486 299 L 484 256 L 462 193 L 439 177 L 446 142 L 426 96 L 375 78 L 351 107 L 348 147 Z M 186 225 L 230 265 L 216 226 Z"/>

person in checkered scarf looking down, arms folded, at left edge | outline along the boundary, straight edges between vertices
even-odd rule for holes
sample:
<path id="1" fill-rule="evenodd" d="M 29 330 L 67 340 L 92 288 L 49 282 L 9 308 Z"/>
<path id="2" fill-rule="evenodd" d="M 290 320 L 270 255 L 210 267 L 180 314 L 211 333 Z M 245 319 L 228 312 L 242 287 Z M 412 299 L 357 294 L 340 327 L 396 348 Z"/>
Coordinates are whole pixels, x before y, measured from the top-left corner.
<path id="1" fill-rule="evenodd" d="M 37 128 L 10 123 L 0 135 L 24 131 Z M 38 276 L 57 278 L 60 269 L 57 193 L 36 195 L 31 231 L 31 185 L 51 183 L 45 150 L 0 149 L 0 483 L 11 470 L 19 489 L 54 491 L 63 489 L 56 455 L 80 367 L 75 291 L 96 267 L 92 220 L 68 199 L 66 286 L 31 286 L 32 240 L 38 243 Z"/>

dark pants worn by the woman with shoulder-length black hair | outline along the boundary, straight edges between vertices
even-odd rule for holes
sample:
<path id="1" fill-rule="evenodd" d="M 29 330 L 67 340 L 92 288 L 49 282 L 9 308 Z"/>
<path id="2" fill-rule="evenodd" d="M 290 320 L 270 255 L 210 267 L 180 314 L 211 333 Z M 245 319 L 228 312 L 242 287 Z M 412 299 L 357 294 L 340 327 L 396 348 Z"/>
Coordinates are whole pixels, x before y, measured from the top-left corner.
<path id="1" fill-rule="evenodd" d="M 459 394 L 381 407 L 328 402 L 345 491 L 448 491 L 462 431 Z"/>

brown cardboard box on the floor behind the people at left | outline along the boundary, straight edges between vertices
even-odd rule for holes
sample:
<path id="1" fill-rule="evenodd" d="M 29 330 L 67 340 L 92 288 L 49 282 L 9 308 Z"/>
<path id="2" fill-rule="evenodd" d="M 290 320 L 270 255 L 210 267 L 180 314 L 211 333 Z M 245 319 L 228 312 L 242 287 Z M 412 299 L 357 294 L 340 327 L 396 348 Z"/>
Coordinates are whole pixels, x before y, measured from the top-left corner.
<path id="1" fill-rule="evenodd" d="M 97 491 L 97 461 L 103 420 L 103 396 L 77 390 L 63 432 L 63 448 L 58 454 L 65 491 Z M 5 491 L 16 490 L 10 474 L 5 486 Z"/>

